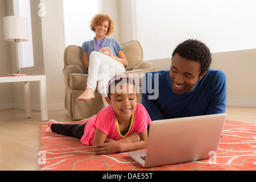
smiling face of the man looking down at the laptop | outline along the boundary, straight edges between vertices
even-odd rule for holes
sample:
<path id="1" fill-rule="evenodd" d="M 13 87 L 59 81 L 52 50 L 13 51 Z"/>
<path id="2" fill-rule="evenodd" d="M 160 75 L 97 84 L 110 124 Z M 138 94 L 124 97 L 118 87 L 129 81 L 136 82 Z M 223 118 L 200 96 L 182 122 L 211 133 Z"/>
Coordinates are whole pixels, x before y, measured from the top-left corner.
<path id="1" fill-rule="evenodd" d="M 195 60 L 185 59 L 179 54 L 172 57 L 172 64 L 170 68 L 170 80 L 172 84 L 172 91 L 175 94 L 183 94 L 191 92 L 197 81 L 201 80 L 207 72 L 200 75 L 201 64 Z"/>

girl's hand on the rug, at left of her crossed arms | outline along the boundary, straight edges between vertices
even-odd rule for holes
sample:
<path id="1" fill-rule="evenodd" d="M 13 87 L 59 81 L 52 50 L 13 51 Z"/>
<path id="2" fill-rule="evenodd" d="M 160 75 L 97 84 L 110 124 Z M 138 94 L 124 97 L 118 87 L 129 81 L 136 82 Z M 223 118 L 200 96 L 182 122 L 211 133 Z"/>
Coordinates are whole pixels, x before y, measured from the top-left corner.
<path id="1" fill-rule="evenodd" d="M 95 154 L 114 154 L 119 152 L 119 143 L 113 139 L 106 139 L 105 143 L 94 146 Z"/>

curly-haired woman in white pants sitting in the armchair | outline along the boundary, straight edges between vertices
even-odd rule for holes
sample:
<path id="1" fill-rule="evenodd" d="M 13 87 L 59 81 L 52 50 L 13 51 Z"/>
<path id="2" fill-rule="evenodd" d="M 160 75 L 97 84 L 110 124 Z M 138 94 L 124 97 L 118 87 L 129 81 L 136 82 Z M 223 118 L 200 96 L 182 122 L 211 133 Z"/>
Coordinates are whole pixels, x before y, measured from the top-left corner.
<path id="1" fill-rule="evenodd" d="M 82 44 L 82 60 L 84 67 L 88 69 L 89 76 L 86 89 L 77 98 L 77 101 L 94 98 L 98 82 L 98 92 L 101 94 L 105 106 L 108 106 L 105 97 L 110 73 L 125 72 L 128 61 L 117 40 L 106 38 L 114 30 L 114 23 L 108 15 L 95 15 L 90 23 L 90 29 L 95 32 L 95 38 Z"/>

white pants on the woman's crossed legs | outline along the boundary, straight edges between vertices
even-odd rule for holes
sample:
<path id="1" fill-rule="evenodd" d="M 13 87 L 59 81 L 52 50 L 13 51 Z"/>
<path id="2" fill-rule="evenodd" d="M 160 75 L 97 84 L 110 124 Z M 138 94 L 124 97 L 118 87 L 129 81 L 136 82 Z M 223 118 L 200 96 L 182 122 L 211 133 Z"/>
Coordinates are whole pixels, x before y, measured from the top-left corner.
<path id="1" fill-rule="evenodd" d="M 108 106 L 105 97 L 110 76 L 125 72 L 125 67 L 119 61 L 97 51 L 90 53 L 89 61 L 87 88 L 95 91 L 98 82 L 98 93 L 101 94 L 104 105 Z"/>

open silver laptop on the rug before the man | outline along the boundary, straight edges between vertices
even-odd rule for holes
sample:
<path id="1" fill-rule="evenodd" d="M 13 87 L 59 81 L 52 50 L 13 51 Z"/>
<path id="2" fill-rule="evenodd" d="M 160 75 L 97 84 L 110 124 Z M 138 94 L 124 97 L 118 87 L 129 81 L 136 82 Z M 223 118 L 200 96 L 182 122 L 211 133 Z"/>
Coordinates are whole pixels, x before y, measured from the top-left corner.
<path id="1" fill-rule="evenodd" d="M 129 156 L 145 168 L 210 159 L 217 154 L 225 119 L 224 113 L 153 121 L 147 150 Z"/>

